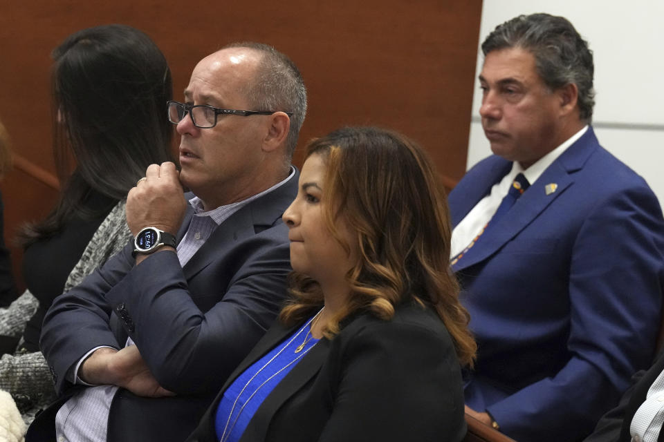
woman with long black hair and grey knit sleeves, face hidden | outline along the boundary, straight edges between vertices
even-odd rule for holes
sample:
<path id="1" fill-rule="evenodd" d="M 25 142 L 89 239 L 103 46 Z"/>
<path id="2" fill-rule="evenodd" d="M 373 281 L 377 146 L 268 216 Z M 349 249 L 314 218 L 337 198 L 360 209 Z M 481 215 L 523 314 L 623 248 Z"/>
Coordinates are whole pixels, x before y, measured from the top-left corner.
<path id="1" fill-rule="evenodd" d="M 17 354 L 0 360 L 0 387 L 23 410 L 53 396 L 39 352 L 44 313 L 127 244 L 127 192 L 149 164 L 172 160 L 171 73 L 147 35 L 122 25 L 84 29 L 55 48 L 53 59 L 53 149 L 64 184 L 46 219 L 21 233 L 28 291 L 17 304 L 34 304 L 33 295 L 39 308 Z"/>

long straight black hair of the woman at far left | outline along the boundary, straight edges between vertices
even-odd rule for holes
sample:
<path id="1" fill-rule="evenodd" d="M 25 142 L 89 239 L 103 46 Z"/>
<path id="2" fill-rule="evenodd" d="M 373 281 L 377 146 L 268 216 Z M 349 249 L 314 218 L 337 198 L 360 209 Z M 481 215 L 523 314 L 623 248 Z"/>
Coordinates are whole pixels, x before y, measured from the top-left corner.
<path id="1" fill-rule="evenodd" d="M 53 236 L 74 215 L 98 216 L 83 205 L 91 193 L 121 200 L 149 164 L 172 160 L 171 72 L 145 33 L 96 26 L 67 37 L 52 56 L 53 155 L 64 184 L 46 219 L 24 227 L 24 246 Z"/>

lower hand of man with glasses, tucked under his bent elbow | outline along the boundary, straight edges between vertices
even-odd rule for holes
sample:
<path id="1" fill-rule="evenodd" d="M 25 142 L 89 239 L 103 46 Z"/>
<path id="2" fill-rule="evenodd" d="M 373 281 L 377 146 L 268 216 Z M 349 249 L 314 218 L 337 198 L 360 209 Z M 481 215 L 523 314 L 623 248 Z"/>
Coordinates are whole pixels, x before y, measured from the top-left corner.
<path id="1" fill-rule="evenodd" d="M 112 348 L 95 350 L 79 369 L 79 377 L 94 385 L 117 385 L 137 396 L 174 396 L 152 376 L 140 356 L 138 347 L 130 345 L 120 351 Z"/>

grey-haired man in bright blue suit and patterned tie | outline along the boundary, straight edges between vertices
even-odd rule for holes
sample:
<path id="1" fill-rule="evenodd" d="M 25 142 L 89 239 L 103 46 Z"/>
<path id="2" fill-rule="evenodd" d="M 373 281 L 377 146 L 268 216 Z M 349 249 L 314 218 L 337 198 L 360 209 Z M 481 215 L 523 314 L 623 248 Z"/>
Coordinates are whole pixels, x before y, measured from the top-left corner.
<path id="1" fill-rule="evenodd" d="M 479 344 L 467 412 L 519 442 L 576 441 L 652 360 L 664 221 L 645 181 L 598 144 L 593 57 L 569 21 L 516 17 L 482 50 L 495 155 L 449 198 Z"/>

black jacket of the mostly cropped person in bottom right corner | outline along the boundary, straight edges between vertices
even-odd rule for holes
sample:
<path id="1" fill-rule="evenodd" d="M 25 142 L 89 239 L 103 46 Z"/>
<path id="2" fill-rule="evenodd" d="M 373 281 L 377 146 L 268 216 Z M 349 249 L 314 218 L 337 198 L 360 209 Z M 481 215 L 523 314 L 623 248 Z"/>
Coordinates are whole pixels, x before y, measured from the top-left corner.
<path id="1" fill-rule="evenodd" d="M 629 442 L 629 426 L 638 407 L 645 401 L 650 385 L 664 370 L 664 352 L 647 371 L 641 370 L 632 377 L 632 384 L 627 389 L 620 403 L 607 412 L 595 427 L 593 434 L 584 442 Z M 664 442 L 664 431 L 660 431 L 658 442 Z"/>

